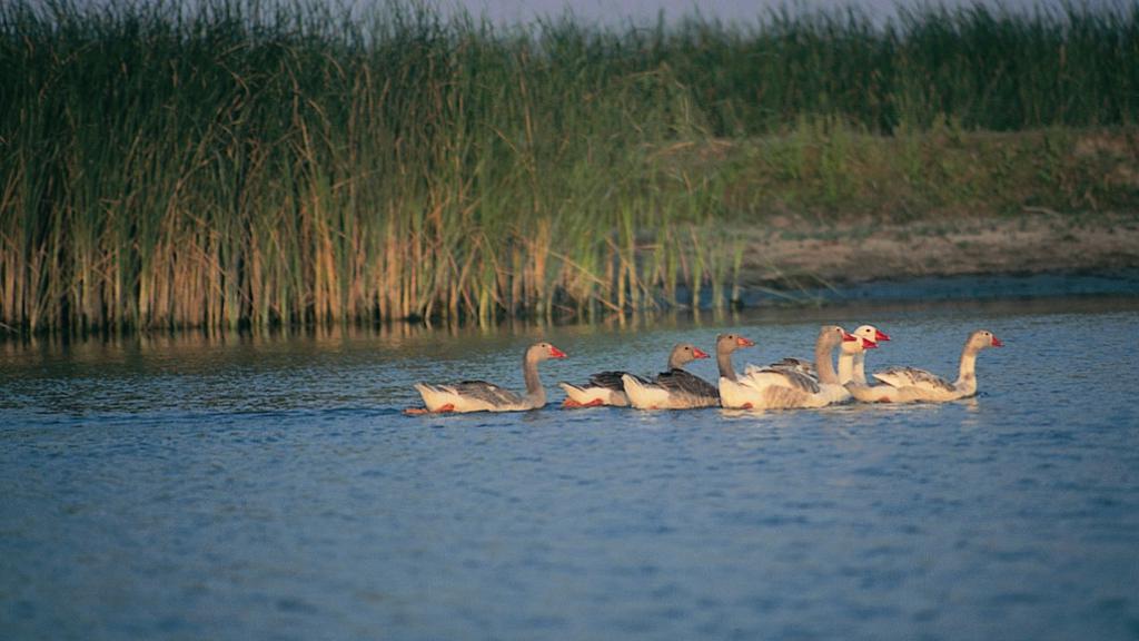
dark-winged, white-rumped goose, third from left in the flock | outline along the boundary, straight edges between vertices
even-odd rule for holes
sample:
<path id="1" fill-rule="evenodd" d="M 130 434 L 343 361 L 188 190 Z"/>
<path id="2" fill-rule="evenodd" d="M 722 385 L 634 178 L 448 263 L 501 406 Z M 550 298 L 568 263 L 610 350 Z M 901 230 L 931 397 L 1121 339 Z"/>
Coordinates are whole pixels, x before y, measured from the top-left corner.
<path id="1" fill-rule="evenodd" d="M 720 334 L 715 340 L 715 359 L 720 376 L 736 379 L 731 354 L 755 342 L 736 334 Z M 720 405 L 715 386 L 683 370 L 672 370 L 649 382 L 631 374 L 621 376 L 629 404 L 638 409 L 688 409 Z"/>

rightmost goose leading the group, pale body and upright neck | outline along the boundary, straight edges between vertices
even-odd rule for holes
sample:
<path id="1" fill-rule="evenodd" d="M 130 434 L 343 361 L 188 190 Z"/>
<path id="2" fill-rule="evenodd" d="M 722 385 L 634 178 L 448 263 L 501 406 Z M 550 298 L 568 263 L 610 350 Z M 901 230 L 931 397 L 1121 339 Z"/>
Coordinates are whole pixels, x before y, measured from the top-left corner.
<path id="1" fill-rule="evenodd" d="M 916 367 L 891 367 L 874 374 L 883 384 L 851 384 L 851 393 L 863 403 L 944 403 L 977 393 L 977 354 L 985 348 L 1003 347 L 992 332 L 977 330 L 969 334 L 961 349 L 961 364 L 952 383 Z"/>

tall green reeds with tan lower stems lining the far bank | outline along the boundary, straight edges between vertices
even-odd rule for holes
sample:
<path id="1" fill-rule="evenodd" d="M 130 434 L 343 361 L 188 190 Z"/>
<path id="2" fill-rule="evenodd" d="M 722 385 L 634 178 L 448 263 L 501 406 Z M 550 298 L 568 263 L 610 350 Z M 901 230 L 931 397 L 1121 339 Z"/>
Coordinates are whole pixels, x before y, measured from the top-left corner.
<path id="1" fill-rule="evenodd" d="M 353 18 L 6 2 L 0 323 L 492 322 L 707 290 L 722 305 L 741 251 L 716 228 L 722 138 L 816 119 L 1132 124 L 1139 5 L 1120 7 L 609 30 L 399 2 Z M 842 157 L 827 162 L 837 198 Z"/>

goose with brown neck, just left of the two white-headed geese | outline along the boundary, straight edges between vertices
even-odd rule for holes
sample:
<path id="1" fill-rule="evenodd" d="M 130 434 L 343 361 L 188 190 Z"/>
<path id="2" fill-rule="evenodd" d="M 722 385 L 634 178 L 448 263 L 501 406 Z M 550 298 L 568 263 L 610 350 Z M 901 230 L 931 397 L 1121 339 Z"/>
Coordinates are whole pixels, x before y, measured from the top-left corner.
<path id="1" fill-rule="evenodd" d="M 831 354 L 843 342 L 858 341 L 837 325 L 819 330 L 814 344 L 817 378 L 798 367 L 748 367 L 738 381 L 720 379 L 720 398 L 724 407 L 743 409 L 786 409 L 793 407 L 823 407 L 842 403 L 850 392 L 839 384 Z M 786 359 L 785 359 L 786 362 Z"/>

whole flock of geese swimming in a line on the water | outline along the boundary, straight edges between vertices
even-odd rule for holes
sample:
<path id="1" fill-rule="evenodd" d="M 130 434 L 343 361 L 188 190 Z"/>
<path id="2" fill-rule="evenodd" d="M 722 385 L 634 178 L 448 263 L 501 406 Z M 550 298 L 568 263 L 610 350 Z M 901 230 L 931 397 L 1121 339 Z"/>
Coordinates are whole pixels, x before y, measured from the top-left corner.
<path id="1" fill-rule="evenodd" d="M 737 334 L 720 334 L 715 342 L 719 386 L 685 370 L 685 365 L 695 359 L 708 358 L 705 351 L 687 343 L 673 348 L 669 355 L 667 370 L 653 379 L 629 372 L 599 372 L 582 384 L 558 384 L 566 392 L 566 407 L 612 405 L 639 409 L 789 409 L 825 407 L 851 400 L 943 403 L 977 393 L 977 354 L 989 347 L 1001 347 L 1000 340 L 992 332 L 978 330 L 965 341 L 956 381 L 950 382 L 915 367 L 890 367 L 874 373 L 874 381 L 870 382 L 866 376 L 866 350 L 888 340 L 890 336 L 871 325 L 862 325 L 853 333 L 837 325 L 826 325 L 819 331 L 813 363 L 784 358 L 765 367 L 748 365 L 739 374 L 732 366 L 731 355 L 755 342 Z M 837 370 L 833 362 L 836 349 L 839 350 Z M 532 344 L 523 357 L 526 381 L 524 395 L 486 381 L 417 383 L 415 387 L 423 396 L 425 407 L 407 412 L 517 412 L 543 407 L 546 390 L 538 375 L 538 364 L 565 357 L 564 351 L 548 342 Z"/>

